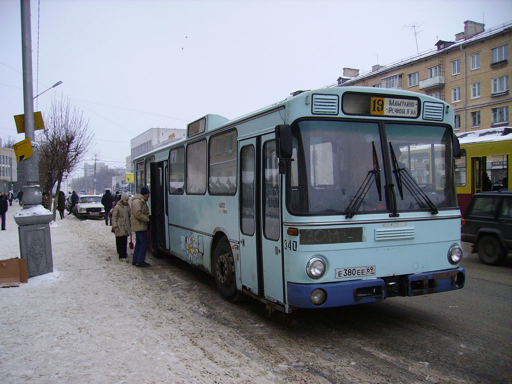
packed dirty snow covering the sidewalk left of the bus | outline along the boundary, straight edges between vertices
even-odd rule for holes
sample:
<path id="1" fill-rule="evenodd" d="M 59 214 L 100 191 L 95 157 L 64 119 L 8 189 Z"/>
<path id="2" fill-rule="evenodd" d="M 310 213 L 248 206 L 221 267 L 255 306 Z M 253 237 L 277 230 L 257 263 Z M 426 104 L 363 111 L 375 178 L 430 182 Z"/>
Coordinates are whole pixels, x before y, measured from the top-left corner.
<path id="1" fill-rule="evenodd" d="M 19 209 L 13 203 L 7 212 L 2 259 L 19 256 Z M 57 215 L 53 272 L 0 289 L 0 382 L 281 381 L 269 367 L 231 352 L 218 335 L 208 338 L 178 299 L 171 303 L 176 310 L 152 300 L 144 278 L 151 268 L 132 266 L 131 250 L 128 262 L 119 261 L 110 229 L 102 220 Z"/>

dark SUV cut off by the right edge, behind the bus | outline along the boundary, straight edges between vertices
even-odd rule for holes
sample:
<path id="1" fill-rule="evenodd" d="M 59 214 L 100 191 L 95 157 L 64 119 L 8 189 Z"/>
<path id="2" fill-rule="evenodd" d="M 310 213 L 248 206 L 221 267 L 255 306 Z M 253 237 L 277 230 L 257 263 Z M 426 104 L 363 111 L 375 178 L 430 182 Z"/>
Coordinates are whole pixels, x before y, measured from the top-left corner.
<path id="1" fill-rule="evenodd" d="M 512 190 L 473 195 L 462 219 L 461 240 L 473 243 L 482 263 L 505 264 L 512 252 Z"/>

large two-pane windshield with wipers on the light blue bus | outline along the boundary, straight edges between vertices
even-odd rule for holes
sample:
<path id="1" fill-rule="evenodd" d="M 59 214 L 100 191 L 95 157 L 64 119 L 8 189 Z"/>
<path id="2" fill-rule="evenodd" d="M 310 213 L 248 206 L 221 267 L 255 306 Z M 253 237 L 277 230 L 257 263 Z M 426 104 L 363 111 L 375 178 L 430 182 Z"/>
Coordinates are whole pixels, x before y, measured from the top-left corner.
<path id="1" fill-rule="evenodd" d="M 457 206 L 446 127 L 386 123 L 379 130 L 378 122 L 304 120 L 292 132 L 292 214 L 437 213 Z"/>

